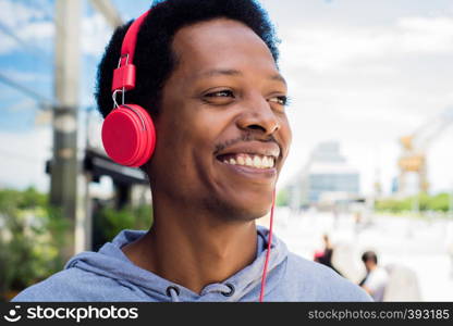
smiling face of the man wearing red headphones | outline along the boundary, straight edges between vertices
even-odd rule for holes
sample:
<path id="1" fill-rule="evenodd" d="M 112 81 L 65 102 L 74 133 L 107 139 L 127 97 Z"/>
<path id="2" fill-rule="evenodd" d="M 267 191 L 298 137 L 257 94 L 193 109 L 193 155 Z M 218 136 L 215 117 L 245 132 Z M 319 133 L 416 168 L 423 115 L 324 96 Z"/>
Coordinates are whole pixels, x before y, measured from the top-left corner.
<path id="1" fill-rule="evenodd" d="M 268 213 L 287 155 L 286 85 L 266 43 L 219 18 L 180 29 L 162 91 L 154 191 L 217 216 Z"/>

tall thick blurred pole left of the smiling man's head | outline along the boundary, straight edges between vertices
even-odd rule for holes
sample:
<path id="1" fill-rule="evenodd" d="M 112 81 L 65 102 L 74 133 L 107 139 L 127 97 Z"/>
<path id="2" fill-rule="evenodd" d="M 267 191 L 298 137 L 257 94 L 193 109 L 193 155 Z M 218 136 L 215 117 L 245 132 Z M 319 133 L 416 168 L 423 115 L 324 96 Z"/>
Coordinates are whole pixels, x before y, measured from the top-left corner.
<path id="1" fill-rule="evenodd" d="M 77 206 L 77 105 L 79 79 L 79 0 L 56 1 L 53 155 L 50 202 L 75 225 Z M 68 235 L 64 255 L 74 254 L 74 230 Z"/>

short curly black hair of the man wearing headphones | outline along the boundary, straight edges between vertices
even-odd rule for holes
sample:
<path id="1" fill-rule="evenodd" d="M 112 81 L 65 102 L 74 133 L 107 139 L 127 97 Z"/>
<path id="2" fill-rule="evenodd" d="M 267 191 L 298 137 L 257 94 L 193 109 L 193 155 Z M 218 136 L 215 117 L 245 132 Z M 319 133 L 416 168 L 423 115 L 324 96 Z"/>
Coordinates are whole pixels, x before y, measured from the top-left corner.
<path id="1" fill-rule="evenodd" d="M 278 38 L 266 11 L 255 0 L 167 0 L 151 7 L 137 36 L 134 64 L 136 87 L 127 91 L 126 101 L 147 108 L 151 116 L 159 112 L 161 90 L 177 64 L 172 40 L 179 29 L 217 17 L 238 21 L 254 30 L 268 46 L 278 62 Z M 96 100 L 106 117 L 113 109 L 111 84 L 121 45 L 132 22 L 118 27 L 98 66 Z M 152 108 L 152 110 L 149 110 Z"/>

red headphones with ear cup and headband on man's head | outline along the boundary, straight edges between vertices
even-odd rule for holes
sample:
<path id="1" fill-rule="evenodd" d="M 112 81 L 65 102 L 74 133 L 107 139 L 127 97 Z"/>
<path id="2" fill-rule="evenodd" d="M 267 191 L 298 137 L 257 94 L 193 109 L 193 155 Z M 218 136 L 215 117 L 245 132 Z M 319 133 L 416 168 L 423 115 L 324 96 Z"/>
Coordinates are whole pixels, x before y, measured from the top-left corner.
<path id="1" fill-rule="evenodd" d="M 136 18 L 124 37 L 120 61 L 113 72 L 114 108 L 102 124 L 102 143 L 107 154 L 114 162 L 133 167 L 148 162 L 156 147 L 156 129 L 148 112 L 137 104 L 124 103 L 124 93 L 135 88 L 135 46 L 148 13 Z M 122 96 L 121 105 L 117 102 L 119 92 Z"/>

